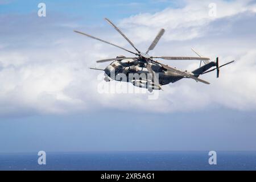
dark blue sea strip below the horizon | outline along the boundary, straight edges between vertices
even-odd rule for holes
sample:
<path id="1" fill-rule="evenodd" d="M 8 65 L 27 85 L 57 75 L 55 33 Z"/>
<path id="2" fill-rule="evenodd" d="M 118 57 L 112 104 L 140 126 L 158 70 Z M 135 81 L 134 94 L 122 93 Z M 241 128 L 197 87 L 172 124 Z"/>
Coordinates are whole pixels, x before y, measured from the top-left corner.
<path id="1" fill-rule="evenodd" d="M 256 151 L 47 152 L 46 165 L 37 153 L 0 154 L 0 170 L 256 170 Z"/>

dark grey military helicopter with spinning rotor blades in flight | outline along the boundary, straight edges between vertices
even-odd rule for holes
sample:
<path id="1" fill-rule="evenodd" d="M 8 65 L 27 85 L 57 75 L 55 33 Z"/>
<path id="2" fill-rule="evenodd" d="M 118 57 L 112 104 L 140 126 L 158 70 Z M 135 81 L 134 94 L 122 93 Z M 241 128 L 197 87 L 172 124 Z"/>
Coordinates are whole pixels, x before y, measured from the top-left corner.
<path id="1" fill-rule="evenodd" d="M 216 70 L 217 78 L 218 78 L 220 75 L 220 68 L 234 62 L 234 61 L 230 61 L 229 63 L 219 66 L 218 57 L 216 58 L 216 61 L 209 61 L 210 59 L 208 57 L 201 56 L 194 49 L 192 49 L 192 51 L 195 52 L 198 57 L 150 56 L 150 55 L 148 55 L 148 52 L 152 51 L 155 48 L 156 44 L 158 44 L 160 38 L 163 36 L 164 31 L 165 31 L 163 28 L 159 31 L 158 35 L 156 35 L 156 38 L 151 43 L 150 47 L 148 47 L 147 51 L 141 52 L 134 46 L 134 44 L 130 41 L 130 39 L 128 39 L 127 36 L 125 34 L 123 34 L 123 32 L 121 30 L 119 30 L 119 28 L 117 26 L 115 26 L 114 23 L 112 23 L 108 18 L 105 18 L 105 20 L 110 25 L 112 25 L 115 28 L 115 30 L 119 34 L 121 34 L 123 36 L 123 38 L 125 38 L 127 40 L 127 42 L 129 42 L 130 45 L 136 51 L 136 52 L 129 51 L 128 49 L 117 46 L 113 43 L 110 43 L 105 40 L 96 38 L 92 35 L 88 35 L 83 32 L 74 30 L 76 33 L 79 33 L 79 34 L 88 36 L 89 38 L 96 39 L 96 40 L 99 40 L 106 44 L 110 44 L 112 46 L 121 48 L 124 51 L 130 52 L 130 53 L 136 55 L 136 57 L 117 56 L 112 59 L 104 59 L 104 60 L 96 61 L 97 63 L 105 63 L 108 61 L 113 61 L 105 69 L 90 68 L 90 69 L 104 71 L 105 72 L 105 74 L 104 74 L 105 81 L 116 80 L 116 81 L 131 82 L 134 86 L 148 89 L 149 92 L 152 92 L 152 90 L 160 90 L 160 89 L 162 89 L 162 85 L 174 83 L 176 81 L 181 80 L 182 78 L 192 78 L 193 80 L 195 80 L 197 82 L 203 82 L 204 84 L 210 84 L 209 82 L 200 79 L 199 76 Z M 180 69 L 172 68 L 168 65 L 159 63 L 159 61 L 156 61 L 155 59 L 200 60 L 200 67 L 195 69 L 192 72 L 181 71 Z M 203 66 L 202 66 L 202 62 L 204 63 Z M 215 68 L 210 69 L 212 67 L 215 67 Z M 139 77 L 134 76 L 136 73 L 137 73 L 137 75 L 144 74 L 146 76 L 143 76 L 143 77 L 142 76 L 139 76 Z M 125 78 L 121 75 L 125 76 Z"/>

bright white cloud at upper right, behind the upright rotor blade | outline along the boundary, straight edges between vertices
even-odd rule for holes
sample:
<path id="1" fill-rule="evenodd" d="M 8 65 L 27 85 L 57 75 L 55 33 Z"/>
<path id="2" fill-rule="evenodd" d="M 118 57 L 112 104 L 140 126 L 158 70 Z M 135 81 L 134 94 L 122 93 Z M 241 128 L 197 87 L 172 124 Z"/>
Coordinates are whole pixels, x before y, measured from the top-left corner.
<path id="1" fill-rule="evenodd" d="M 155 14 L 138 14 L 123 19 L 119 24 L 127 28 L 137 42 L 152 39 L 155 31 L 166 28 L 165 40 L 188 40 L 204 36 L 207 25 L 216 19 L 244 12 L 255 13 L 255 4 L 247 1 L 186 1 L 179 9 L 167 8 Z M 209 16 L 210 3 L 216 4 L 216 17 Z M 154 30 L 154 31 L 152 31 Z"/>

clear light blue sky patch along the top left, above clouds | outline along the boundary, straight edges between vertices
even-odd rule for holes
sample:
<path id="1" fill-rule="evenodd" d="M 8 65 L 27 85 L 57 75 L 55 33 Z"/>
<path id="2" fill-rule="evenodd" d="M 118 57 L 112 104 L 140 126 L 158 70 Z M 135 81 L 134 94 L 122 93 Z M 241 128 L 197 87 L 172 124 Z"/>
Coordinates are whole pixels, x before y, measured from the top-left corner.
<path id="1" fill-rule="evenodd" d="M 27 14 L 36 13 L 38 3 L 42 1 L 3 1 L 1 13 Z M 47 4 L 49 16 L 51 13 L 60 13 L 65 16 L 74 16 L 86 21 L 98 21 L 108 16 L 113 20 L 126 18 L 138 13 L 155 13 L 167 6 L 180 7 L 183 2 L 178 1 L 43 1 Z"/>

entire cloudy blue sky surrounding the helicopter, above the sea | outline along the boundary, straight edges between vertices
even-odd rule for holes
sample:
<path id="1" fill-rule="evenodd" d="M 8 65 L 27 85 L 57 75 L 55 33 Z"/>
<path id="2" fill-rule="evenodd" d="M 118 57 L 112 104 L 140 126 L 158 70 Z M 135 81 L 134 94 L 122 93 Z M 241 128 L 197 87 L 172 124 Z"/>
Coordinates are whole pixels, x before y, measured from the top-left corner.
<path id="1" fill-rule="evenodd" d="M 46 17 L 38 4 L 46 4 Z M 214 3 L 214 4 L 211 4 Z M 209 5 L 216 5 L 210 16 Z M 215 12 L 215 11 L 214 11 Z M 131 56 L 79 30 L 140 50 L 166 32 L 150 55 L 196 56 L 220 64 L 200 78 L 150 93 L 100 93 L 96 60 Z M 256 150 L 255 1 L 0 0 L 0 152 Z M 192 71 L 198 61 L 167 61 Z M 113 85 L 111 85 L 113 84 Z M 121 86 L 127 84 L 122 83 Z"/>

